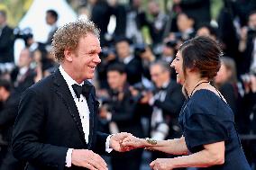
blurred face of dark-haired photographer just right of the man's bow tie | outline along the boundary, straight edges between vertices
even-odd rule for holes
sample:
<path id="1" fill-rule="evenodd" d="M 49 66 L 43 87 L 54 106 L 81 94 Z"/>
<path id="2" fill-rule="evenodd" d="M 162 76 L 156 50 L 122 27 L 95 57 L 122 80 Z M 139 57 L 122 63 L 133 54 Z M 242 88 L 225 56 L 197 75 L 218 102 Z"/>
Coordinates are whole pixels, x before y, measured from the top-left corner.
<path id="1" fill-rule="evenodd" d="M 120 74 L 118 71 L 107 72 L 107 83 L 111 89 L 117 90 L 122 88 L 126 80 L 125 74 Z"/>

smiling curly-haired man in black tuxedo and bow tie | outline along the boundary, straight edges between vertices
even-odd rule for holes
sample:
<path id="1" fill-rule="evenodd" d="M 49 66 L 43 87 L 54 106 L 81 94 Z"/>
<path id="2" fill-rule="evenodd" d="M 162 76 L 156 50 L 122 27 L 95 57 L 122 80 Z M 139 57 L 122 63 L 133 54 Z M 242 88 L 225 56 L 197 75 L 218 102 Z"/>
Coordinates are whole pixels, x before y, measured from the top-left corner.
<path id="1" fill-rule="evenodd" d="M 93 85 L 100 63 L 99 31 L 93 22 L 70 22 L 54 34 L 59 69 L 22 96 L 14 124 L 14 156 L 28 169 L 107 169 L 97 154 L 122 151 L 127 134 L 108 136 L 96 130 L 98 102 Z M 96 154 L 96 153 L 97 154 Z"/>

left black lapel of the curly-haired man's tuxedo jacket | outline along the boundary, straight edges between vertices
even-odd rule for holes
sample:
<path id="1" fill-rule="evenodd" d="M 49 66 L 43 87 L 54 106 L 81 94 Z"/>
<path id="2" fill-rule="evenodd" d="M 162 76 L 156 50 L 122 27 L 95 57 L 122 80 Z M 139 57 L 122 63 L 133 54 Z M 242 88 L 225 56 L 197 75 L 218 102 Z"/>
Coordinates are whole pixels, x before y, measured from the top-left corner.
<path id="1" fill-rule="evenodd" d="M 53 79 L 54 85 L 56 86 L 55 93 L 59 95 L 60 100 L 65 104 L 72 119 L 76 122 L 80 138 L 83 139 L 85 144 L 87 144 L 82 123 L 80 121 L 77 105 L 72 97 L 72 94 L 69 91 L 69 86 L 67 85 L 63 76 L 60 74 L 59 69 L 57 69 L 53 74 Z"/>

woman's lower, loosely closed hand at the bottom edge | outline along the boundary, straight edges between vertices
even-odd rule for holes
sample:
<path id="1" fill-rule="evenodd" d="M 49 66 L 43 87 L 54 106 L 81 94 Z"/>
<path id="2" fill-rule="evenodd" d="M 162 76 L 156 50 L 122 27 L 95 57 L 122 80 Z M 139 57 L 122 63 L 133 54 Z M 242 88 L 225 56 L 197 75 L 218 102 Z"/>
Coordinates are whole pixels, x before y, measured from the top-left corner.
<path id="1" fill-rule="evenodd" d="M 171 170 L 174 168 L 171 158 L 158 158 L 150 164 L 153 170 Z"/>

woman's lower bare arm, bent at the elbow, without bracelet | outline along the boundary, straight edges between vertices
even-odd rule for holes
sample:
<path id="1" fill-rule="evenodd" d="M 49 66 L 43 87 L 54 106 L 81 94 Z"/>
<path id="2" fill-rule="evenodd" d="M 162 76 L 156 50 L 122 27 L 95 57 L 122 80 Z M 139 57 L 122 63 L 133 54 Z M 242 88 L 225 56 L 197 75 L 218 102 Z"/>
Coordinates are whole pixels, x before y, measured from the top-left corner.
<path id="1" fill-rule="evenodd" d="M 173 169 L 178 167 L 208 167 L 224 164 L 224 141 L 208 144 L 205 149 L 189 156 L 156 159 L 152 169 Z"/>

